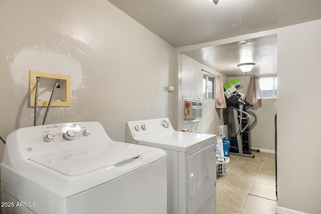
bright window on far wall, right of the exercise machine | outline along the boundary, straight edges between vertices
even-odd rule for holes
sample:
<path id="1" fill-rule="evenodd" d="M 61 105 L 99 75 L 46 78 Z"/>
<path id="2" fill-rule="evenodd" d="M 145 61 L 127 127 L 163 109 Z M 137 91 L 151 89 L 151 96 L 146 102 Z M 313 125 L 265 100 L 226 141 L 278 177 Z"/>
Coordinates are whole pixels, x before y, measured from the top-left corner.
<path id="1" fill-rule="evenodd" d="M 269 99 L 277 97 L 277 77 L 260 77 L 261 98 Z"/>

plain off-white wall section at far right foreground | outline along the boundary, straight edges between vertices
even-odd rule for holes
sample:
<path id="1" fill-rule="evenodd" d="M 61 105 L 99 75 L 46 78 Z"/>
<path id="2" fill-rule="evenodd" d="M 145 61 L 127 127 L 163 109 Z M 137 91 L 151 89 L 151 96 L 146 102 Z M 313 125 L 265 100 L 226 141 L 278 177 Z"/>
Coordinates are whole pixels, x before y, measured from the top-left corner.
<path id="1" fill-rule="evenodd" d="M 277 35 L 278 210 L 321 213 L 321 20 Z"/>

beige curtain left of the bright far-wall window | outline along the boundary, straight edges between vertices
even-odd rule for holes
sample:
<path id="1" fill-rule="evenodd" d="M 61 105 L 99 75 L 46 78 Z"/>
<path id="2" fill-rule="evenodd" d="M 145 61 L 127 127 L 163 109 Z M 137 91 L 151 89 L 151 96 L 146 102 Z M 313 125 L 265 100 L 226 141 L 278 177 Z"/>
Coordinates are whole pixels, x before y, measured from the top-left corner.
<path id="1" fill-rule="evenodd" d="M 250 105 L 262 106 L 261 103 L 261 91 L 260 91 L 260 78 L 258 76 L 252 76 L 250 79 L 249 87 L 246 92 L 246 99 Z"/>

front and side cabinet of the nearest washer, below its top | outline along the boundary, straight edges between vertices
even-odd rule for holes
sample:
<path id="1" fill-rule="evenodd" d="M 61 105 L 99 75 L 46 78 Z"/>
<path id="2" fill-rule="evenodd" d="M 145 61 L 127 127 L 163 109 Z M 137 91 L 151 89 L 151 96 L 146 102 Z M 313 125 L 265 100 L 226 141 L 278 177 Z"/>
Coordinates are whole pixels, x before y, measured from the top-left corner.
<path id="1" fill-rule="evenodd" d="M 167 212 L 166 163 L 167 158 L 163 157 L 126 175 L 65 198 L 22 176 L 13 176 L 12 171 L 2 167 L 4 175 L 1 182 L 8 184 L 2 194 L 2 201 L 14 201 L 15 204 L 20 201 L 30 202 L 31 205 L 2 207 L 2 213 L 5 210 L 5 213 L 19 214 L 164 214 Z"/>

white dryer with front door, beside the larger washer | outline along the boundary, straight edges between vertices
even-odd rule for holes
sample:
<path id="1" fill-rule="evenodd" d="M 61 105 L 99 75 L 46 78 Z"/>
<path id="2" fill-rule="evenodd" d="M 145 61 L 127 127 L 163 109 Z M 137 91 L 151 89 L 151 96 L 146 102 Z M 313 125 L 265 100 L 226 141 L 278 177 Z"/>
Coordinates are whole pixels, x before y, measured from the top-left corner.
<path id="1" fill-rule="evenodd" d="M 216 135 L 175 131 L 161 118 L 127 122 L 125 141 L 166 151 L 167 213 L 216 213 Z"/>

